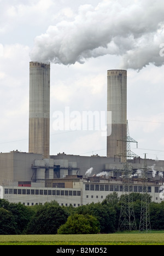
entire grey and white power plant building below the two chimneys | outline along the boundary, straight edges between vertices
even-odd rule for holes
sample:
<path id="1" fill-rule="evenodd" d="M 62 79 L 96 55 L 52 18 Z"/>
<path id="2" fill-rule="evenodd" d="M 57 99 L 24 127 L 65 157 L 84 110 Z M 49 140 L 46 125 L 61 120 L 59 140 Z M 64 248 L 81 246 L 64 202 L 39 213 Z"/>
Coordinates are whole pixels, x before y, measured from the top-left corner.
<path id="1" fill-rule="evenodd" d="M 119 159 L 64 153 L 42 159 L 41 154 L 16 151 L 0 154 L 0 162 L 0 199 L 21 202 L 27 206 L 56 200 L 61 206 L 78 207 L 102 202 L 113 192 L 121 196 L 126 190 L 121 178 L 124 163 Z M 148 193 L 154 202 L 161 202 L 160 193 L 164 185 L 161 170 L 164 161 L 154 164 L 154 160 L 148 159 L 147 162 Z M 138 170 L 142 170 L 144 160 L 133 159 L 129 164 L 134 174 L 128 189 L 142 193 L 143 181 Z M 90 167 L 92 173 L 87 176 L 86 170 Z M 153 171 L 156 175 L 153 175 Z"/>

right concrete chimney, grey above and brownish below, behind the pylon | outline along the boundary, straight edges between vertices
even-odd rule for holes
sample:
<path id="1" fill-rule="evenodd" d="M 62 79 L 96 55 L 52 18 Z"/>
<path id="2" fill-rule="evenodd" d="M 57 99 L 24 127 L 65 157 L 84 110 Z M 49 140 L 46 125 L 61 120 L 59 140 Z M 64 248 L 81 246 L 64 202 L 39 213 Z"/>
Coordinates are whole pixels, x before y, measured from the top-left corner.
<path id="1" fill-rule="evenodd" d="M 127 71 L 108 70 L 107 110 L 112 111 L 112 134 L 107 137 L 107 157 L 126 157 Z M 124 159 L 124 160 L 123 160 Z"/>

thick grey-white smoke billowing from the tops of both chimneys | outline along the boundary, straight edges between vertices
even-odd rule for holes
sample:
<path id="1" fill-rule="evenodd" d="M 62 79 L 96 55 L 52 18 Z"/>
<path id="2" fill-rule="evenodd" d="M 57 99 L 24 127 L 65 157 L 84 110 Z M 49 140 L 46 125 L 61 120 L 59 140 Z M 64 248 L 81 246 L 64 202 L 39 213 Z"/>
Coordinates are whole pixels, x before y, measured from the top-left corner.
<path id="1" fill-rule="evenodd" d="M 163 0 L 104 0 L 96 8 L 80 5 L 72 20 L 49 26 L 35 38 L 30 57 L 71 65 L 108 54 L 121 56 L 120 68 L 161 66 L 163 16 Z"/>

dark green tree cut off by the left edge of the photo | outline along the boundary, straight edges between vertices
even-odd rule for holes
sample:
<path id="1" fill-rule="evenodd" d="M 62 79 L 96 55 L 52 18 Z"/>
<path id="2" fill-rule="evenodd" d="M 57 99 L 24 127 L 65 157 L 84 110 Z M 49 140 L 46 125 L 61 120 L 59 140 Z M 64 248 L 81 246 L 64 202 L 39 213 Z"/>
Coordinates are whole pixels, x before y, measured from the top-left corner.
<path id="1" fill-rule="evenodd" d="M 0 208 L 0 235 L 15 235 L 15 224 L 13 215 L 4 208 Z"/>

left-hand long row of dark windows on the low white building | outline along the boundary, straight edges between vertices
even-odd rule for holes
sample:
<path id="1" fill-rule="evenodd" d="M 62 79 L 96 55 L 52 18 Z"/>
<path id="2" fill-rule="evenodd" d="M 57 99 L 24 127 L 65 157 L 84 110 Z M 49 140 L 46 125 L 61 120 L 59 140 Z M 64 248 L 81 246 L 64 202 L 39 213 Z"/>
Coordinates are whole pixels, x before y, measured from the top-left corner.
<path id="1" fill-rule="evenodd" d="M 4 194 L 11 195 L 61 195 L 80 196 L 81 191 L 77 190 L 50 190 L 50 189 L 4 189 Z"/>

